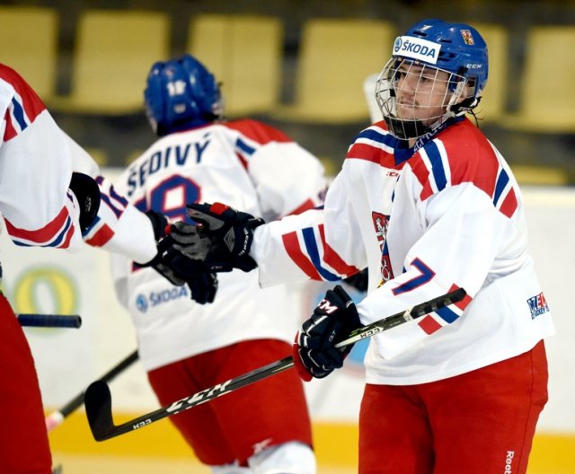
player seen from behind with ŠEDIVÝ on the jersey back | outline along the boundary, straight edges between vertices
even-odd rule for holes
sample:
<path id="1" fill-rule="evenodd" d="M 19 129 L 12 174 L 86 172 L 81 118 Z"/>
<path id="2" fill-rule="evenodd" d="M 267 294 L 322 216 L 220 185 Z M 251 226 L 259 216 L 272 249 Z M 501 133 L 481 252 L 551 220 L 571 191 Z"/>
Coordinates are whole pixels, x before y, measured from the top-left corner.
<path id="1" fill-rule="evenodd" d="M 145 100 L 160 138 L 115 183 L 141 210 L 177 221 L 187 203 L 214 200 L 274 220 L 323 203 L 321 163 L 273 127 L 224 120 L 217 80 L 197 58 L 152 66 Z M 247 260 L 241 266 L 254 267 Z M 296 298 L 284 285 L 261 290 L 257 271 L 221 274 L 218 284 L 215 276 L 199 276 L 191 287 L 195 302 L 188 288 L 128 259 L 114 256 L 112 274 L 162 405 L 291 353 L 299 321 L 277 312 Z M 171 419 L 218 474 L 315 472 L 303 384 L 293 371 Z"/>

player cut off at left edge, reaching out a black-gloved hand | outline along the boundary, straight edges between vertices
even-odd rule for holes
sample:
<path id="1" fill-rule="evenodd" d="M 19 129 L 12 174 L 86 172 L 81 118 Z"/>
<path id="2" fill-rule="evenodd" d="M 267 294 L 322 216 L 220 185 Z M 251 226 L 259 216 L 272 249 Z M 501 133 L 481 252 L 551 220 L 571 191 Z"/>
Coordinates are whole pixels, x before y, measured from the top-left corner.
<path id="1" fill-rule="evenodd" d="M 174 249 L 173 237 L 157 243 L 158 252 L 156 240 L 165 237 L 166 219 L 159 214 L 149 219 L 119 195 L 92 158 L 57 127 L 30 85 L 1 64 L 0 117 L 0 213 L 15 244 L 75 250 L 85 241 L 151 265 L 179 285 L 197 273 Z M 34 362 L 1 291 L 0 325 L 0 470 L 49 474 L 49 440 Z"/>

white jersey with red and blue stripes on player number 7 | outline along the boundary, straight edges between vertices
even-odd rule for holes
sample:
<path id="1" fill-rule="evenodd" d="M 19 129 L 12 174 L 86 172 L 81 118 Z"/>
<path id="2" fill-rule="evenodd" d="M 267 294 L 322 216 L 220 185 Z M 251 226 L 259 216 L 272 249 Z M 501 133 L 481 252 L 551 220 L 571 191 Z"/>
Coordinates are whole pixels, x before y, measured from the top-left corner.
<path id="1" fill-rule="evenodd" d="M 362 131 L 327 193 L 323 213 L 256 229 L 262 285 L 335 280 L 369 268 L 358 303 L 368 324 L 451 289 L 467 297 L 372 338 L 367 382 L 414 384 L 526 352 L 553 334 L 526 253 L 526 219 L 503 157 L 466 118 L 414 153 L 384 122 Z"/>

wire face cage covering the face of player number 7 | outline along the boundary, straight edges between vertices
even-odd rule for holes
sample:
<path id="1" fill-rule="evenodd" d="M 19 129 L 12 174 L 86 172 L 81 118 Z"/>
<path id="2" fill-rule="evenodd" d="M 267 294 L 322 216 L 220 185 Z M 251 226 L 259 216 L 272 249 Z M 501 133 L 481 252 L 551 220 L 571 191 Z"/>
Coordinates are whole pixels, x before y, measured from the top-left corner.
<path id="1" fill-rule="evenodd" d="M 392 57 L 377 78 L 376 101 L 394 136 L 417 139 L 467 111 L 455 107 L 466 98 L 466 85 L 463 75 Z"/>

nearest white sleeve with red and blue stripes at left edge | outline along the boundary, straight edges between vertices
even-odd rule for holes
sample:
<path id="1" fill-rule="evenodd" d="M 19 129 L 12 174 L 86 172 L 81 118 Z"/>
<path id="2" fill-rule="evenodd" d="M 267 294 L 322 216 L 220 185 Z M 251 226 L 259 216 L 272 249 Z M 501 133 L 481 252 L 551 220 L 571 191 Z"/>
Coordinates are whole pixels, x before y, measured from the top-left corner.
<path id="1" fill-rule="evenodd" d="M 0 102 L 0 211 L 6 230 L 17 245 L 78 247 L 82 236 L 68 191 L 72 158 L 66 137 L 36 93 L 6 66 L 0 66 Z"/>

